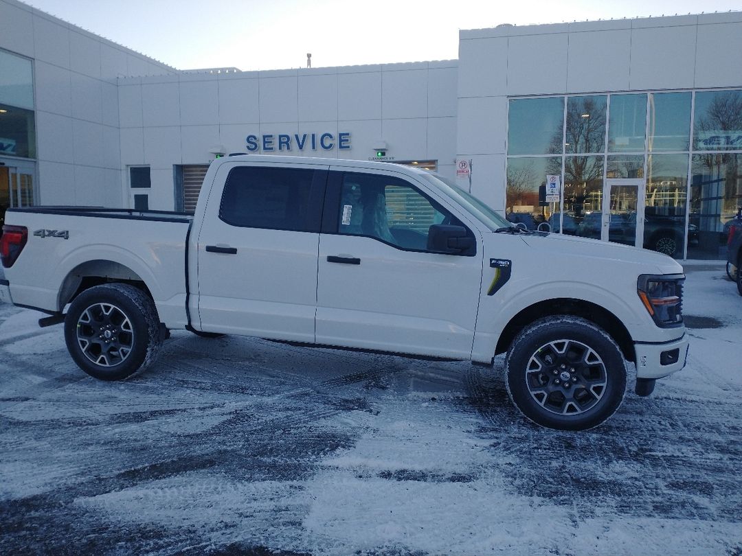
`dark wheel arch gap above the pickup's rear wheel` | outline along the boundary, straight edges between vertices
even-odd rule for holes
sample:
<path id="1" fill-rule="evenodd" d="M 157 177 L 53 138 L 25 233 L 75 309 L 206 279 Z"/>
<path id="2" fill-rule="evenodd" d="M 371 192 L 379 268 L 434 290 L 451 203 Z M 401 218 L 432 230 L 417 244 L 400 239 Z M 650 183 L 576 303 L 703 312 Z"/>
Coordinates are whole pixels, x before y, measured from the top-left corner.
<path id="1" fill-rule="evenodd" d="M 68 272 L 65 279 L 62 280 L 62 286 L 59 288 L 57 305 L 59 308 L 64 308 L 65 305 L 72 302 L 83 291 L 95 285 L 111 282 L 134 285 L 144 291 L 150 298 L 152 297 L 152 293 L 144 279 L 131 270 L 131 268 L 120 262 L 95 259 L 82 262 Z"/>

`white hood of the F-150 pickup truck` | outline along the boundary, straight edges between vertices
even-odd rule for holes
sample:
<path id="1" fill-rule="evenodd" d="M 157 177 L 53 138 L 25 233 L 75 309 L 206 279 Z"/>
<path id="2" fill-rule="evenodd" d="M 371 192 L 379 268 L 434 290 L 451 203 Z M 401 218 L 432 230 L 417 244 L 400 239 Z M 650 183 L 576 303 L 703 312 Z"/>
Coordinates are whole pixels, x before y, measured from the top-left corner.
<path id="1" fill-rule="evenodd" d="M 595 259 L 595 264 L 600 265 L 596 268 L 603 271 L 613 266 L 626 271 L 635 266 L 638 274 L 683 274 L 683 267 L 672 257 L 630 245 L 563 234 L 523 234 L 520 237 L 531 248 L 542 251 L 548 260 L 568 262 L 568 259 L 580 257 Z"/>

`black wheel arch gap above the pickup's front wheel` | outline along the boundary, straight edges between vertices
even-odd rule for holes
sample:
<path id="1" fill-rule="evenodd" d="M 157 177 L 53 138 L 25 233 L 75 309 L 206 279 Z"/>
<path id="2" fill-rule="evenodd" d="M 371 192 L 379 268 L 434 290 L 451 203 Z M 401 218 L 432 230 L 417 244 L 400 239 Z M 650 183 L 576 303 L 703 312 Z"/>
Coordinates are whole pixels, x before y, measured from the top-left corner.
<path id="1" fill-rule="evenodd" d="M 628 361 L 634 361 L 634 342 L 631 340 L 631 334 L 628 333 L 628 329 L 616 315 L 596 303 L 584 299 L 565 297 L 545 299 L 519 311 L 503 328 L 497 341 L 495 355 L 508 351 L 508 347 L 519 332 L 532 322 L 543 317 L 557 315 L 582 317 L 600 326 L 618 344 L 623 357 Z"/>

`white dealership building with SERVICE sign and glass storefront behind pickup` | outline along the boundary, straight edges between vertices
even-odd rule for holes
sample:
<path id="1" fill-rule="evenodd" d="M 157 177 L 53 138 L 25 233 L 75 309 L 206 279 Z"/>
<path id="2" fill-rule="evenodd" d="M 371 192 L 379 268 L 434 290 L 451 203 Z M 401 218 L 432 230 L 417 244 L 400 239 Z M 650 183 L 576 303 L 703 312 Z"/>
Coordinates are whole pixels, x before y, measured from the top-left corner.
<path id="1" fill-rule="evenodd" d="M 178 70 L 0 0 L 0 205 L 193 211 L 217 156 L 429 168 L 527 228 L 723 259 L 742 13 L 462 30 L 459 59 Z"/>

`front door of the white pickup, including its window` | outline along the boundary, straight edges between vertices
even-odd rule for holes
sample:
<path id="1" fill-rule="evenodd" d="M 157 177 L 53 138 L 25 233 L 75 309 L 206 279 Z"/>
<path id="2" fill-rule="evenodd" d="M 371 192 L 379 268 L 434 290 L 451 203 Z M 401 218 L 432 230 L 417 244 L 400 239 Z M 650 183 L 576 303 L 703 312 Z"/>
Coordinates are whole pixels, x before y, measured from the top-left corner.
<path id="1" fill-rule="evenodd" d="M 472 256 L 433 253 L 430 225 L 464 225 L 456 216 L 399 174 L 337 170 L 320 236 L 317 342 L 470 357 L 479 234 L 468 228 Z"/>

